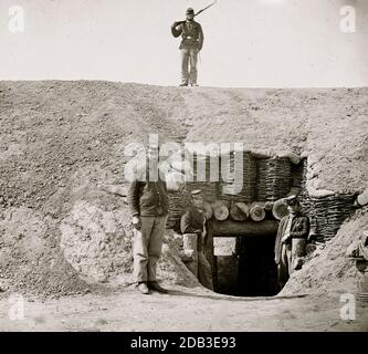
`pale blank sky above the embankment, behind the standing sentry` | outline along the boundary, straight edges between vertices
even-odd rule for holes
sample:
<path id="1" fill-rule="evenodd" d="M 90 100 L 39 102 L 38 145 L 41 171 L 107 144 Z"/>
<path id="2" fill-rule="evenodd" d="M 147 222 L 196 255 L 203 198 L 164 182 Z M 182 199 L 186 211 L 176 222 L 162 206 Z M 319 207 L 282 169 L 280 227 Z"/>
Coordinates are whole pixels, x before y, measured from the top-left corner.
<path id="1" fill-rule="evenodd" d="M 1 0 L 0 80 L 180 82 L 188 7 L 212 0 Z M 9 31 L 9 8 L 24 31 Z M 340 9 L 353 6 L 355 32 Z M 368 0 L 218 0 L 202 24 L 199 84 L 222 87 L 368 86 Z"/>

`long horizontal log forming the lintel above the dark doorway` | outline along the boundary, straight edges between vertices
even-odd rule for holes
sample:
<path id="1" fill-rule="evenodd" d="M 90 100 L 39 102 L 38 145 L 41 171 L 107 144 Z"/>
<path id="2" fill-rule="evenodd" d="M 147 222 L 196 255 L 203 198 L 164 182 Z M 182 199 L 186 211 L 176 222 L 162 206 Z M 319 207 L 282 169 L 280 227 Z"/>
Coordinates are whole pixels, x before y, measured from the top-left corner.
<path id="1" fill-rule="evenodd" d="M 277 232 L 278 223 L 276 220 L 263 220 L 260 222 L 246 220 L 243 222 L 225 220 L 210 220 L 209 228 L 213 237 L 274 237 Z"/>

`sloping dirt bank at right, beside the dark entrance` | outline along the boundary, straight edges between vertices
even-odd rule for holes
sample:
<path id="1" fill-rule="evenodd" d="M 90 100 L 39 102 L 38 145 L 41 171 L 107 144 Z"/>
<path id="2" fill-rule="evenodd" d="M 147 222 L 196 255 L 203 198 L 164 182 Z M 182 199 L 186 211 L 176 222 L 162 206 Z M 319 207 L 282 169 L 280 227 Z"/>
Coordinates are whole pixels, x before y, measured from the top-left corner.
<path id="1" fill-rule="evenodd" d="M 368 207 L 358 210 L 323 249 L 316 250 L 306 264 L 294 272 L 281 295 L 296 293 L 356 293 L 362 277 L 356 261 L 346 256 L 347 248 L 368 230 Z"/>

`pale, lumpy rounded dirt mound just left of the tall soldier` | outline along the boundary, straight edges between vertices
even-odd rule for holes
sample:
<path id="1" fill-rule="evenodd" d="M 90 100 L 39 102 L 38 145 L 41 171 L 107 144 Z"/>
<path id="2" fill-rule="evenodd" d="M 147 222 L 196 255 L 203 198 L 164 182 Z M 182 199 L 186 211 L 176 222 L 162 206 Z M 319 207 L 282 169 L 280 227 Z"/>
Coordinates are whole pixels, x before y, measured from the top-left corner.
<path id="1" fill-rule="evenodd" d="M 132 238 L 122 219 L 122 209 L 104 211 L 80 201 L 61 222 L 64 257 L 91 282 L 104 282 L 112 274 L 132 271 Z"/>

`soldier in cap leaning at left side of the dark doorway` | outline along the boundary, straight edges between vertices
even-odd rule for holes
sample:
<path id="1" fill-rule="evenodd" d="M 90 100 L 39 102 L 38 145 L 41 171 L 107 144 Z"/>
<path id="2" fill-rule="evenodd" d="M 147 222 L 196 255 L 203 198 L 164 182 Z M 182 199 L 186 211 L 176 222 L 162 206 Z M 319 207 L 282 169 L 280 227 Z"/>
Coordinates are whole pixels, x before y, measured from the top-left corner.
<path id="1" fill-rule="evenodd" d="M 210 290 L 213 290 L 212 269 L 203 251 L 206 247 L 206 216 L 202 210 L 203 197 L 201 190 L 191 191 L 191 204 L 185 210 L 180 220 L 181 233 L 197 233 L 198 251 L 198 280 Z"/>

